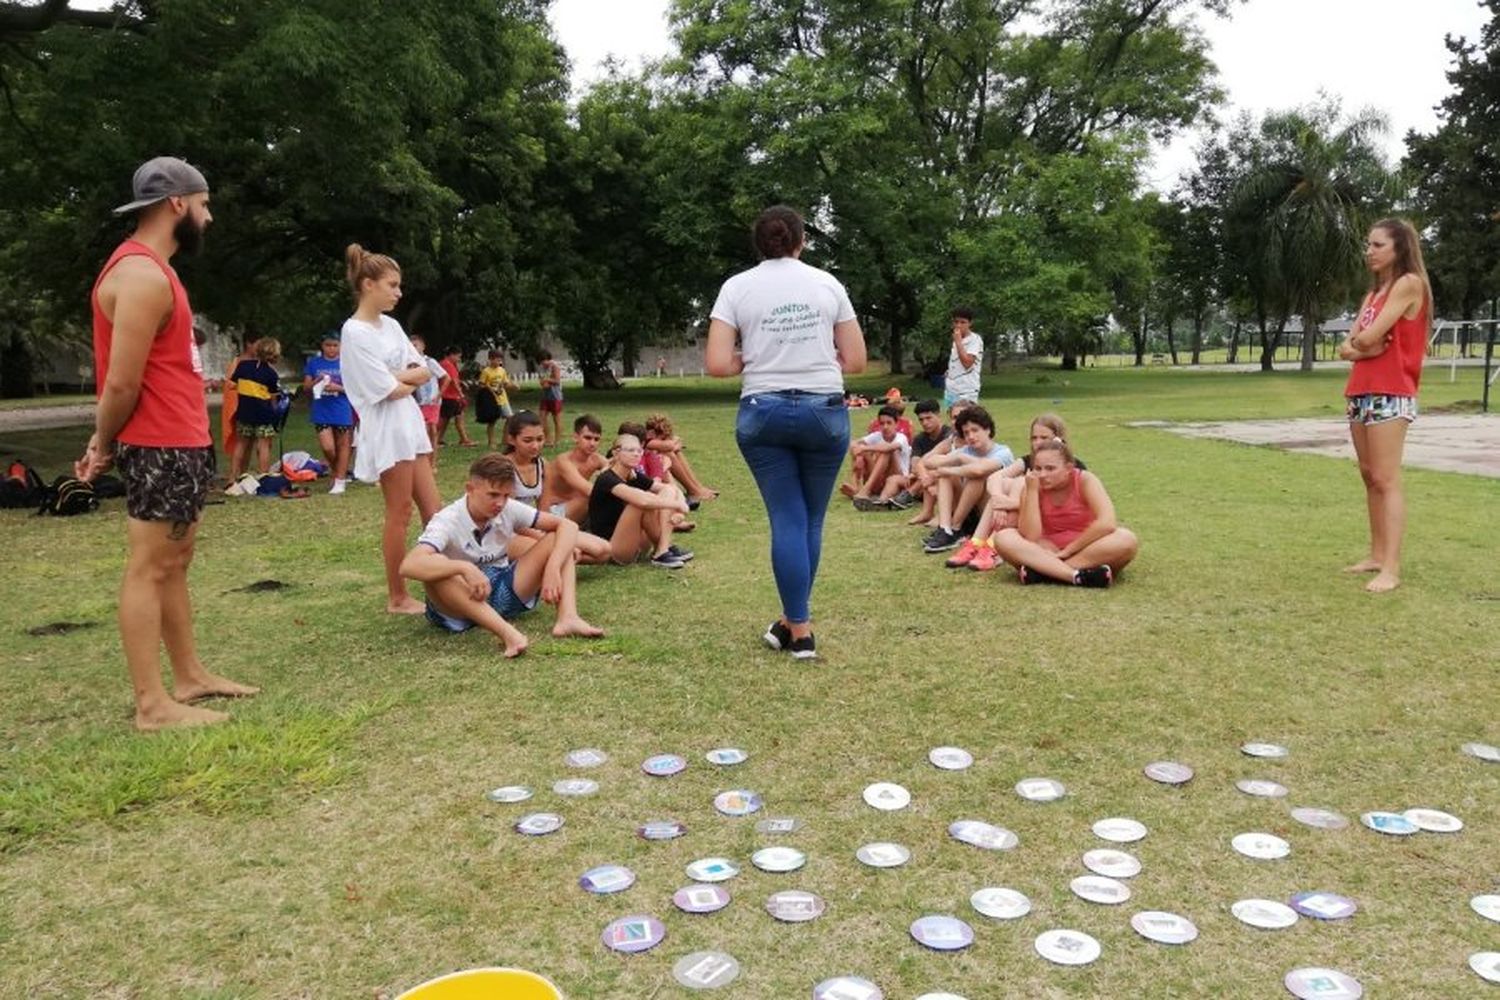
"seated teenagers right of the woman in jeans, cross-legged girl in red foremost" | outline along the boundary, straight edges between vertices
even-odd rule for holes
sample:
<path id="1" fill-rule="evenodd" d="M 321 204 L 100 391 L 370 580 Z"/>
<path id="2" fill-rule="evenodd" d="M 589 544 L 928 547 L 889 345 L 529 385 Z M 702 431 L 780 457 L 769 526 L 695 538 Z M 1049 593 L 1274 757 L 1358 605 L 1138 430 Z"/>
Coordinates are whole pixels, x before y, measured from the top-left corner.
<path id="1" fill-rule="evenodd" d="M 1110 586 L 1140 541 L 1114 519 L 1098 475 L 1072 454 L 1056 414 L 1030 423 L 1030 450 L 1017 459 L 994 441 L 994 420 L 958 400 L 950 424 L 934 400 L 916 403 L 921 432 L 888 402 L 849 451 L 852 471 L 838 489 L 855 510 L 909 510 L 932 532 L 922 552 L 954 552 L 952 568 L 1016 567 L 1022 583 Z"/>

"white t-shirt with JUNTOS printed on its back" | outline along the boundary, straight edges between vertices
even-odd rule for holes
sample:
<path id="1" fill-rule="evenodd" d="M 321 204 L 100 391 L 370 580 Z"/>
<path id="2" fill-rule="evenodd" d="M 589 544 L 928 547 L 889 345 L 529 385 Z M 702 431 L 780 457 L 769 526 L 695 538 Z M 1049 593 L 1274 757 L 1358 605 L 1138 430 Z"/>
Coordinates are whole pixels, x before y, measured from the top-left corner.
<path id="1" fill-rule="evenodd" d="M 828 271 L 790 256 L 760 261 L 724 282 L 710 315 L 740 331 L 741 396 L 843 391 L 834 324 L 855 316 L 849 292 Z"/>

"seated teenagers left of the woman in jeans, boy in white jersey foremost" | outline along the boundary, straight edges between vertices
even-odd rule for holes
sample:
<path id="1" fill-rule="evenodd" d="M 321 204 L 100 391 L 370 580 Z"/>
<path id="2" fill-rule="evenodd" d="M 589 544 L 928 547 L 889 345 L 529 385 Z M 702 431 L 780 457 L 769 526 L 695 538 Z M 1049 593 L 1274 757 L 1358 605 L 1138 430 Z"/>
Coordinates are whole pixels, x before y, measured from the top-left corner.
<path id="1" fill-rule="evenodd" d="M 690 511 L 718 496 L 702 484 L 664 414 L 620 426 L 600 453 L 603 427 L 584 414 L 573 447 L 542 456 L 542 418 L 520 411 L 506 420 L 502 453 L 468 469 L 464 496 L 428 520 L 400 574 L 423 585 L 426 615 L 453 633 L 492 633 L 506 657 L 526 637 L 512 621 L 546 601 L 556 606 L 554 636 L 603 636 L 578 610 L 578 564 L 636 562 L 681 570 L 693 553 L 674 535 L 693 531 Z"/>

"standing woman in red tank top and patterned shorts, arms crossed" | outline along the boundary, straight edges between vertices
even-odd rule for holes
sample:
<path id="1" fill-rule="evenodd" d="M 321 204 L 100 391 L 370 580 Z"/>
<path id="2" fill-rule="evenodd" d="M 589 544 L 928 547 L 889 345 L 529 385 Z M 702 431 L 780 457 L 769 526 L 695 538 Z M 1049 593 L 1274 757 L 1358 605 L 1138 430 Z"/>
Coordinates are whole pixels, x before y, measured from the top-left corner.
<path id="1" fill-rule="evenodd" d="M 1416 390 L 1432 322 L 1432 286 L 1416 229 L 1404 219 L 1383 219 L 1370 229 L 1365 267 L 1372 276 L 1371 288 L 1338 355 L 1354 363 L 1344 397 L 1348 436 L 1365 481 L 1370 555 L 1344 571 L 1374 573 L 1365 589 L 1382 594 L 1401 583 L 1406 534 L 1401 453 L 1407 427 L 1416 420 Z"/>

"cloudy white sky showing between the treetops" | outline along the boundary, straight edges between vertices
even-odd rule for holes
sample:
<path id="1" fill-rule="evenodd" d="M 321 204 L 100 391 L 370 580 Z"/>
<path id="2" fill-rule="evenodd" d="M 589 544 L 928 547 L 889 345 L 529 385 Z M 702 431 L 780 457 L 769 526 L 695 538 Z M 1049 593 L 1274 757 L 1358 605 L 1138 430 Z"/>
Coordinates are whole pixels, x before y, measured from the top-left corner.
<path id="1" fill-rule="evenodd" d="M 614 55 L 627 66 L 670 51 L 668 0 L 555 0 L 552 24 L 573 60 L 574 85 L 600 75 Z M 1407 129 L 1431 130 L 1432 105 L 1448 93 L 1443 36 L 1478 40 L 1485 10 L 1476 0 L 1248 0 L 1228 19 L 1203 18 L 1230 118 L 1336 96 L 1346 111 L 1374 106 L 1390 118 L 1388 156 Z M 1156 151 L 1149 174 L 1170 187 L 1192 163 L 1196 136 Z"/>

